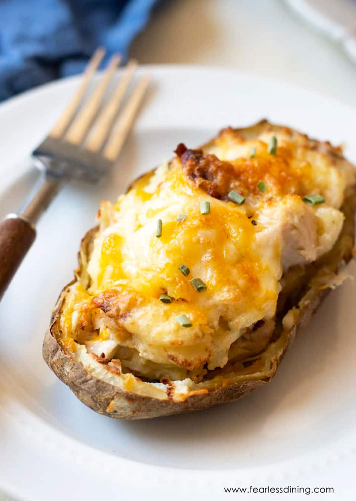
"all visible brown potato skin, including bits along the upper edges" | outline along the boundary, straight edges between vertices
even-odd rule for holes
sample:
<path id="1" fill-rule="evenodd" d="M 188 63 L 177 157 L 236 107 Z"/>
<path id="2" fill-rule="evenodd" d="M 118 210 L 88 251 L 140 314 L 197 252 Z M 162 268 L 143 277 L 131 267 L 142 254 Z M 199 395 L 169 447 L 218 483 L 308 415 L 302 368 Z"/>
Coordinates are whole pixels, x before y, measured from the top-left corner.
<path id="1" fill-rule="evenodd" d="M 251 130 L 253 127 L 259 127 L 264 123 L 265 121 L 260 122 L 248 129 Z M 241 132 L 243 130 L 246 129 L 241 129 Z M 317 143 L 317 146 L 321 145 L 321 147 L 324 147 L 323 145 L 325 144 L 327 144 L 328 147 L 328 143 Z M 330 152 L 330 154 L 332 154 L 332 152 Z M 345 214 L 343 236 L 346 238 L 344 238 L 344 243 L 342 245 L 342 253 L 339 255 L 339 263 L 342 261 L 348 262 L 352 256 L 354 204 L 355 194 L 352 192 L 348 195 L 343 206 Z M 84 248 L 85 252 L 89 252 L 90 241 L 94 238 L 95 232 L 96 228 L 93 228 L 83 238 L 82 248 Z M 79 266 L 81 267 L 81 262 Z M 321 291 L 312 289 L 312 294 L 310 294 L 309 289 L 308 300 L 302 301 L 297 322 L 286 334 L 282 347 L 280 347 L 271 358 L 270 371 L 263 374 L 263 377 L 253 379 L 253 375 L 251 374 L 250 381 L 227 384 L 209 390 L 205 394 L 188 396 L 184 402 L 174 402 L 169 398 L 163 400 L 139 395 L 132 391 L 125 391 L 113 384 L 103 381 L 90 374 L 85 369 L 84 365 L 73 357 L 69 350 L 61 346 L 58 341 L 60 339 L 59 320 L 61 308 L 66 289 L 73 283 L 75 283 L 75 281 L 71 282 L 71 284 L 68 284 L 63 289 L 53 312 L 51 325 L 46 332 L 43 343 L 44 360 L 59 379 L 67 384 L 84 404 L 100 414 L 120 419 L 147 419 L 202 410 L 224 402 L 238 400 L 250 393 L 254 388 L 268 383 L 274 376 L 280 361 L 292 345 L 300 329 L 309 322 L 312 314 L 330 291 L 330 289 L 323 289 Z"/>

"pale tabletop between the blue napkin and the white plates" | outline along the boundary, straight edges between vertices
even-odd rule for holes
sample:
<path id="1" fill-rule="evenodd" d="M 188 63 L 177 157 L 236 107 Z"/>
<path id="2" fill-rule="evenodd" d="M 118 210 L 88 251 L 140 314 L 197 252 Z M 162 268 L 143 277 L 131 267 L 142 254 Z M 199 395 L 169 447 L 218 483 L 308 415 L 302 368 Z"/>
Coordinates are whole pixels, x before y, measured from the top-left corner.
<path id="1" fill-rule="evenodd" d="M 140 63 L 235 68 L 356 106 L 356 65 L 283 0 L 167 0 L 130 56 Z M 10 498 L 0 493 L 0 501 Z"/>

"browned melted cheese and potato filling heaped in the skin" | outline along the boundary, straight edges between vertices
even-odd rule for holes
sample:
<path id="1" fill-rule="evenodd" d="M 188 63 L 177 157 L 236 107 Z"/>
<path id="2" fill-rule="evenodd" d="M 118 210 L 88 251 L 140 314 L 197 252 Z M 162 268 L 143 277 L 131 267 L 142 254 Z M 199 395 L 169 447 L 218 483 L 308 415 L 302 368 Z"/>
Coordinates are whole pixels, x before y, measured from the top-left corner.
<path id="1" fill-rule="evenodd" d="M 277 155 L 267 152 L 272 135 Z M 226 129 L 205 148 L 203 160 L 203 184 L 192 174 L 198 165 L 188 171 L 184 157 L 175 157 L 116 204 L 102 202 L 87 268 L 90 287 L 74 285 L 66 301 L 62 328 L 68 336 L 99 356 L 116 353 L 134 373 L 183 379 L 206 373 L 203 367 L 223 367 L 231 345 L 257 322 L 273 330 L 283 269 L 317 259 L 342 226 L 338 208 L 350 170 L 305 136 L 264 128 L 249 138 Z M 245 203 L 210 196 L 204 190 L 209 176 L 239 191 Z M 260 179 L 264 193 L 257 188 Z M 306 205 L 301 197 L 311 193 L 325 203 Z M 210 202 L 210 214 L 200 213 L 201 201 Z M 177 221 L 179 214 L 186 219 Z M 192 278 L 207 290 L 198 293 Z M 159 300 L 163 293 L 172 303 Z M 192 327 L 180 325 L 182 314 Z"/>

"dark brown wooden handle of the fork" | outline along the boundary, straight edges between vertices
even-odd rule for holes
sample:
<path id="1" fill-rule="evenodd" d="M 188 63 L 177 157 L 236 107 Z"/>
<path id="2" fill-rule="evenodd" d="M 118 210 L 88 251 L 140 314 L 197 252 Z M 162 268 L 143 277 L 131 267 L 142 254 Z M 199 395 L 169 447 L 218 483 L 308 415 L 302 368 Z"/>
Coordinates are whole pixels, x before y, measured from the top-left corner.
<path id="1" fill-rule="evenodd" d="M 34 226 L 18 214 L 0 223 L 0 301 L 36 237 Z"/>

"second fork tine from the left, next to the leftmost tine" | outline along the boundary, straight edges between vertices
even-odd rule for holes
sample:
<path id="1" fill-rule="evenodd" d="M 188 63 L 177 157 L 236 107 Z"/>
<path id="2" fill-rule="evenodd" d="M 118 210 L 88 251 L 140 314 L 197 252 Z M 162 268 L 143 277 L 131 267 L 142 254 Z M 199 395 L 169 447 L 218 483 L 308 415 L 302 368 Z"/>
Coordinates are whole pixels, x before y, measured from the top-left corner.
<path id="1" fill-rule="evenodd" d="M 83 109 L 79 111 L 78 115 L 69 127 L 68 132 L 65 135 L 66 141 L 75 145 L 78 145 L 82 142 L 95 117 L 96 112 L 98 111 L 104 93 L 118 65 L 120 64 L 120 61 L 121 56 L 114 54 L 102 79 L 95 88 L 92 96 L 89 98 L 88 103 L 86 103 Z"/>

